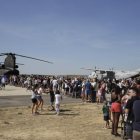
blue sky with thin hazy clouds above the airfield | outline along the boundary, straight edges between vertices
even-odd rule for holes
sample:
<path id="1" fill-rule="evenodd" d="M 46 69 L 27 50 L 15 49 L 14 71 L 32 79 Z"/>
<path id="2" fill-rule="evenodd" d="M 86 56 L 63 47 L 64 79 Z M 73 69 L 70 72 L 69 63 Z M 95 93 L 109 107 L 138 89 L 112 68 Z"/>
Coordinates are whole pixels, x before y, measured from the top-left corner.
<path id="1" fill-rule="evenodd" d="M 53 62 L 17 56 L 20 74 L 133 71 L 140 68 L 139 7 L 139 0 L 1 0 L 0 53 Z"/>

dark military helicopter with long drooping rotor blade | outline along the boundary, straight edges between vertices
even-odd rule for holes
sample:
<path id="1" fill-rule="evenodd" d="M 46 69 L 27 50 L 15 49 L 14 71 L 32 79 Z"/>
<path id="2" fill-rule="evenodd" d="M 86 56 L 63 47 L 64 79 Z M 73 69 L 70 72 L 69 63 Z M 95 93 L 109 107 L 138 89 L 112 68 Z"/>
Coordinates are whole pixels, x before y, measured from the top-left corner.
<path id="1" fill-rule="evenodd" d="M 17 70 L 18 65 L 24 65 L 24 64 L 16 63 L 15 56 L 25 57 L 25 58 L 34 59 L 34 60 L 53 64 L 52 62 L 49 62 L 49 61 L 32 58 L 32 57 L 28 57 L 28 56 L 23 56 L 23 55 L 19 55 L 19 54 L 15 54 L 15 53 L 0 53 L 0 56 L 4 56 L 4 55 L 7 55 L 7 57 L 5 58 L 4 63 L 2 63 L 2 64 L 0 63 L 0 75 L 19 75 L 19 71 Z"/>

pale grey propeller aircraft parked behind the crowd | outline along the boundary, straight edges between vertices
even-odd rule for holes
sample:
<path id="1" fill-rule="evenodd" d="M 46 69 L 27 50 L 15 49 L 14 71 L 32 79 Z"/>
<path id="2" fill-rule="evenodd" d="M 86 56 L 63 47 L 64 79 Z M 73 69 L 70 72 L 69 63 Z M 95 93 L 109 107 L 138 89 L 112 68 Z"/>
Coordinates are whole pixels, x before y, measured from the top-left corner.
<path id="1" fill-rule="evenodd" d="M 88 78 L 93 79 L 129 79 L 129 78 L 136 78 L 140 76 L 140 69 L 135 70 L 135 71 L 117 71 L 114 70 L 114 68 L 109 69 L 109 70 L 103 70 L 103 69 L 90 69 L 90 68 L 81 68 L 85 70 L 92 70 L 91 74 L 88 76 Z"/>

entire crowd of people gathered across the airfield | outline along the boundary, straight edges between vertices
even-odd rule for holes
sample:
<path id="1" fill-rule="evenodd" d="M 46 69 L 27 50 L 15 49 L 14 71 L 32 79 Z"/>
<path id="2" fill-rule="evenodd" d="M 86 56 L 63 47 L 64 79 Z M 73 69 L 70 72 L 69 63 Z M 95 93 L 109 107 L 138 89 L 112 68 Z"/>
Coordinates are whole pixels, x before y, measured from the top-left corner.
<path id="1" fill-rule="evenodd" d="M 1 78 L 3 85 L 5 82 Z M 118 123 L 120 116 L 126 123 L 126 136 L 129 140 L 140 138 L 140 79 L 88 79 L 84 77 L 50 77 L 50 76 L 10 76 L 7 78 L 10 85 L 26 88 L 32 91 L 31 115 L 38 114 L 40 107 L 43 110 L 42 93 L 50 93 L 50 105 L 59 115 L 59 107 L 64 98 L 79 94 L 84 103 L 103 104 L 104 129 L 109 129 L 112 123 L 111 134 L 119 137 Z M 55 102 L 55 106 L 53 105 Z M 35 113 L 33 110 L 35 109 Z"/>

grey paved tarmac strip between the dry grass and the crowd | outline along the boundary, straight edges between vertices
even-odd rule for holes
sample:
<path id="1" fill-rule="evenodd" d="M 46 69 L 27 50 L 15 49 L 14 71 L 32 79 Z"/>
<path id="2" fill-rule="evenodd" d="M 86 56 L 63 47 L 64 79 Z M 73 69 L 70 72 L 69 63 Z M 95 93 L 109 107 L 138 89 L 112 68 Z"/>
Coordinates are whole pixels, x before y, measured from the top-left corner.
<path id="1" fill-rule="evenodd" d="M 0 108 L 31 106 L 32 91 L 26 88 L 6 85 L 5 90 L 0 90 Z M 50 105 L 50 95 L 43 94 L 44 105 Z M 61 104 L 81 103 L 81 99 L 71 97 L 63 98 Z"/>

